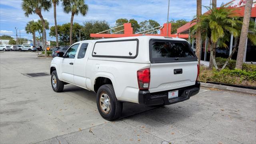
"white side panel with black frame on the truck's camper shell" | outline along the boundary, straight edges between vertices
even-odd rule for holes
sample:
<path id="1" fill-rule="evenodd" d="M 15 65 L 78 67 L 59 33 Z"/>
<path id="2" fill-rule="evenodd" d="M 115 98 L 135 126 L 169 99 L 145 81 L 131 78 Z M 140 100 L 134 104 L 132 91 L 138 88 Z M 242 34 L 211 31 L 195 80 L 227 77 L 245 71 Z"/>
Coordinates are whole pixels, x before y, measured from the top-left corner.
<path id="1" fill-rule="evenodd" d="M 94 44 L 93 57 L 136 58 L 138 39 L 98 41 Z"/>

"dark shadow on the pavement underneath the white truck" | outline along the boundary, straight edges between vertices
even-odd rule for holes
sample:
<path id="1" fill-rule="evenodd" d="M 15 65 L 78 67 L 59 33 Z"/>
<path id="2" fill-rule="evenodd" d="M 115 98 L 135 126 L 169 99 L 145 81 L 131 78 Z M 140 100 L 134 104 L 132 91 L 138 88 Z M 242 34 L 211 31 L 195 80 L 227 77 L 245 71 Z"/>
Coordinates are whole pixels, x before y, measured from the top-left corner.
<path id="1" fill-rule="evenodd" d="M 82 102 L 85 102 L 86 104 L 90 104 L 90 106 L 97 108 L 95 92 L 68 84 L 65 85 L 63 93 L 73 96 L 74 98 L 77 98 Z M 147 117 L 152 120 L 166 119 L 168 123 L 175 123 L 176 121 L 180 121 L 181 119 L 187 117 L 186 114 L 189 113 L 189 110 L 186 110 L 186 112 L 184 112 L 183 110 L 184 109 L 179 107 L 177 104 L 158 107 L 142 106 L 131 102 L 124 102 L 123 111 L 119 119 L 134 119 L 134 117 L 132 116 L 136 117 L 136 114 L 140 114 L 140 116 L 143 116 L 144 118 Z M 177 119 L 174 119 L 174 117 L 176 117 Z"/>

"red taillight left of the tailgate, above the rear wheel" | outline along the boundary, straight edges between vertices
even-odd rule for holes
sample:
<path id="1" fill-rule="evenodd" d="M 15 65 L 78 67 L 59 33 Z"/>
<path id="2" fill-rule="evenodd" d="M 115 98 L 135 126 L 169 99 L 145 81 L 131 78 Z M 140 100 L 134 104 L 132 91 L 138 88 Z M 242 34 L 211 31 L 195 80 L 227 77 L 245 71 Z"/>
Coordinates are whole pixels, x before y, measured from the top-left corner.
<path id="1" fill-rule="evenodd" d="M 150 83 L 150 68 L 137 71 L 138 85 L 140 90 L 148 90 Z"/>

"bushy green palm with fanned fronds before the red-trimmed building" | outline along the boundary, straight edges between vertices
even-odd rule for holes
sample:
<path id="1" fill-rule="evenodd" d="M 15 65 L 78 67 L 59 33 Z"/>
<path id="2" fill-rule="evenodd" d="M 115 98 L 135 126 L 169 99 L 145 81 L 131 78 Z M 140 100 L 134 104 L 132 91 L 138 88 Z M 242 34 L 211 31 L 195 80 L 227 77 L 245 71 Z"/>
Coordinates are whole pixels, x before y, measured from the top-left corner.
<path id="1" fill-rule="evenodd" d="M 206 8 L 209 12 L 200 17 L 199 23 L 192 28 L 192 33 L 200 28 L 202 30 L 201 34 L 208 37 L 211 50 L 210 57 L 214 67 L 218 70 L 214 55 L 216 44 L 227 33 L 233 34 L 235 37 L 238 36 L 238 30 L 234 26 L 241 21 L 234 15 L 234 9 L 225 8 L 223 5 L 220 8 L 210 8 L 208 6 Z"/>

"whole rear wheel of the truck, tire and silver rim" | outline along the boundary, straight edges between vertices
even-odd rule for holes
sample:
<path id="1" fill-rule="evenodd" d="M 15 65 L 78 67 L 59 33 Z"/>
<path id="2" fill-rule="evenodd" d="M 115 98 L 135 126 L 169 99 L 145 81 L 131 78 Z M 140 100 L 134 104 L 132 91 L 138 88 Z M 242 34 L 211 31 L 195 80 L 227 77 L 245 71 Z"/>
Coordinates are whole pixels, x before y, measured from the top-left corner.
<path id="1" fill-rule="evenodd" d="M 100 115 L 105 120 L 115 120 L 123 110 L 123 103 L 116 99 L 112 84 L 100 86 L 97 92 L 97 107 Z"/>

